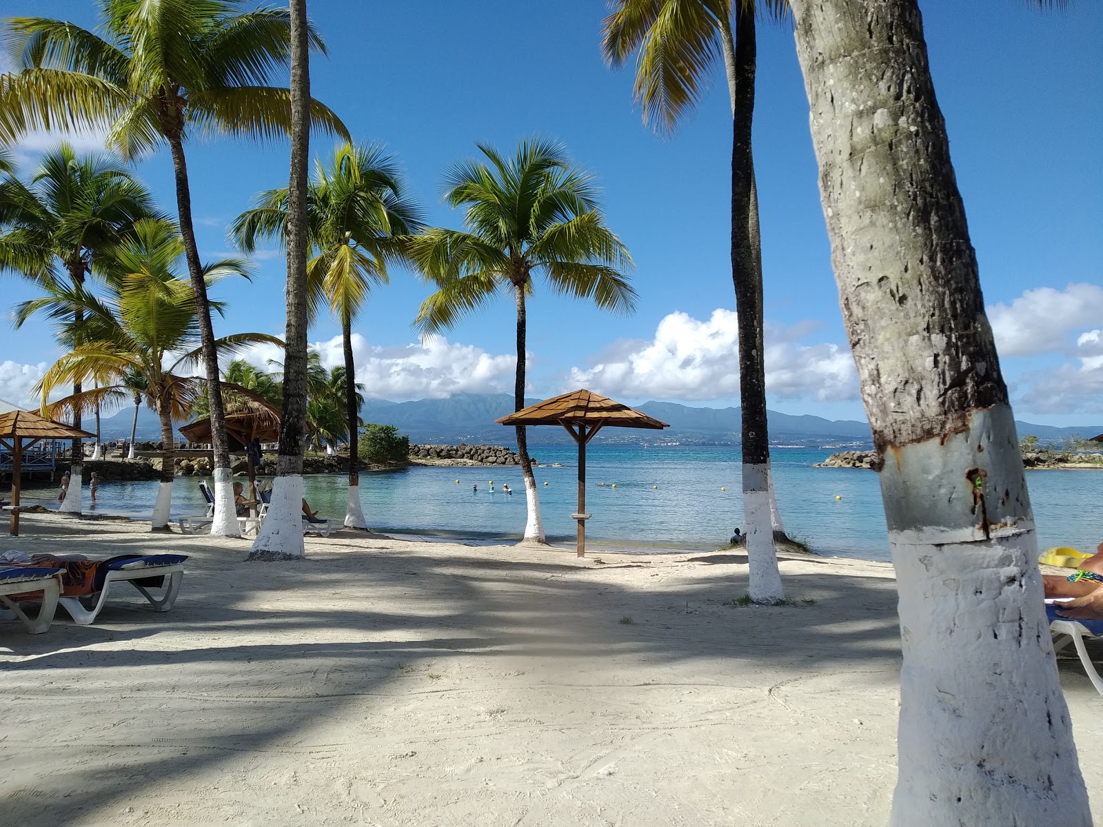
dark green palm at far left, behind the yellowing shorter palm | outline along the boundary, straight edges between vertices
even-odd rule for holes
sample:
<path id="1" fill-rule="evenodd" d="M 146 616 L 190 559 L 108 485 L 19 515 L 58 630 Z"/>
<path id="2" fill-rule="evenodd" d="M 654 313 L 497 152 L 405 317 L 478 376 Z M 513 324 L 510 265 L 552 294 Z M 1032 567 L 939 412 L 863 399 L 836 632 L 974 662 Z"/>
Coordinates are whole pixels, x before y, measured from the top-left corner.
<path id="1" fill-rule="evenodd" d="M 152 216 L 149 192 L 108 155 L 77 157 L 68 144 L 43 157 L 30 181 L 9 172 L 0 179 L 0 272 L 22 276 L 46 292 L 68 296 L 55 305 L 58 342 L 79 346 L 87 337 L 83 296 L 98 257 L 125 238 L 136 219 Z M 17 318 L 19 327 L 26 316 Z M 87 377 L 75 376 L 79 394 Z M 81 411 L 73 426 L 81 427 Z M 97 438 L 98 442 L 98 438 Z M 84 444 L 73 441 L 73 463 L 63 512 L 81 513 Z"/>

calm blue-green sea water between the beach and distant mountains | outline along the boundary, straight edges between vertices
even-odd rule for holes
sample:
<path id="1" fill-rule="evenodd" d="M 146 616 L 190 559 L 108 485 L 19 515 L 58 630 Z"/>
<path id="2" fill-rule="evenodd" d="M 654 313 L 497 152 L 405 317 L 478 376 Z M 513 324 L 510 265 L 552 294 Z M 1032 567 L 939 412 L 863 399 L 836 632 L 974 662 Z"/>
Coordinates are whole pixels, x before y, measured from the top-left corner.
<path id="1" fill-rule="evenodd" d="M 534 445 L 540 511 L 550 540 L 574 543 L 577 457 L 572 445 Z M 889 559 L 877 475 L 817 469 L 831 451 L 774 449 L 774 484 L 789 533 L 822 555 Z M 593 548 L 713 549 L 742 522 L 740 454 L 735 448 L 593 445 L 587 452 L 588 545 Z M 552 468 L 550 463 L 561 463 Z M 459 480 L 459 483 L 456 482 Z M 490 493 L 490 481 L 494 493 Z M 344 516 L 345 476 L 307 476 L 307 500 L 325 516 Z M 544 483 L 547 485 L 544 485 Z M 599 483 L 606 483 L 604 486 Z M 176 477 L 172 515 L 202 514 L 197 477 Z M 501 492 L 502 483 L 514 488 Z M 612 484 L 617 487 L 613 488 Z M 1029 471 L 1039 545 L 1094 550 L 1103 540 L 1103 471 Z M 472 492 L 478 485 L 478 493 Z M 657 486 L 657 487 L 652 487 Z M 89 513 L 149 518 L 156 482 L 103 483 Z M 726 491 L 724 491 L 726 488 Z M 520 468 L 425 468 L 361 475 L 372 528 L 472 543 L 520 539 L 525 496 Z M 836 500 L 840 496 L 842 500 Z M 50 492 L 24 492 L 23 502 Z M 87 495 L 85 503 L 87 508 Z"/>

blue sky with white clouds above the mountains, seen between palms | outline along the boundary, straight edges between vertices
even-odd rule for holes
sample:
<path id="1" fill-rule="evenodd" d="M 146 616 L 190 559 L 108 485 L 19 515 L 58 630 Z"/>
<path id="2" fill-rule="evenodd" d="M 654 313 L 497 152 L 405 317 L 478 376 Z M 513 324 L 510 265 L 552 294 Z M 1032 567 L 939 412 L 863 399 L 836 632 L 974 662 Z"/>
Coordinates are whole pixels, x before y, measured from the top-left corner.
<path id="1" fill-rule="evenodd" d="M 92 3 L 8 0 L 14 15 L 94 26 Z M 921 0 L 939 100 L 981 264 L 986 303 L 1016 414 L 1054 425 L 1103 420 L 1103 3 L 1039 12 L 1010 0 Z M 596 0 L 365 3 L 311 0 L 330 49 L 313 94 L 357 140 L 401 161 L 430 223 L 459 227 L 440 204 L 441 173 L 475 141 L 512 149 L 538 133 L 563 141 L 597 176 L 610 226 L 631 250 L 638 312 L 611 316 L 537 287 L 529 304 L 534 396 L 587 385 L 625 401 L 738 405 L 728 265 L 730 117 L 719 83 L 673 138 L 644 128 L 631 69 L 598 51 Z M 789 25 L 760 26 L 756 160 L 762 212 L 770 406 L 860 418 L 831 272 L 807 101 Z M 53 142 L 31 136 L 33 164 Z M 83 139 L 83 144 L 94 140 Z M 326 138 L 314 152 L 332 147 Z M 201 255 L 231 250 L 226 224 L 253 195 L 286 184 L 286 143 L 188 146 Z M 167 210 L 167 151 L 138 165 Z M 283 260 L 270 251 L 251 282 L 223 282 L 216 330 L 282 333 Z M 28 288 L 6 279 L 14 303 Z M 357 372 L 390 399 L 512 388 L 513 308 L 501 301 L 422 345 L 410 327 L 428 289 L 392 273 L 354 326 Z M 338 326 L 311 332 L 340 358 Z M 58 355 L 40 323 L 0 327 L 0 397 L 25 397 Z M 261 358 L 267 354 L 256 354 Z"/>

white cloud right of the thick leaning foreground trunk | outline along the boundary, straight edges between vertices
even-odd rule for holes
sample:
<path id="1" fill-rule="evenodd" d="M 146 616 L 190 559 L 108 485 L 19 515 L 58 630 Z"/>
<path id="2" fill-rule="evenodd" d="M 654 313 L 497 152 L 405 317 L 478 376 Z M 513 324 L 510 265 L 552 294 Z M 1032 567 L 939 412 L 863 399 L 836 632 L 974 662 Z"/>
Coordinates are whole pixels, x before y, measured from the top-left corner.
<path id="1" fill-rule="evenodd" d="M 1103 288 L 1075 283 L 1064 290 L 1040 287 L 1026 290 L 1009 305 L 992 304 L 988 321 L 1002 357 L 1064 353 L 1072 333 L 1103 319 Z"/>

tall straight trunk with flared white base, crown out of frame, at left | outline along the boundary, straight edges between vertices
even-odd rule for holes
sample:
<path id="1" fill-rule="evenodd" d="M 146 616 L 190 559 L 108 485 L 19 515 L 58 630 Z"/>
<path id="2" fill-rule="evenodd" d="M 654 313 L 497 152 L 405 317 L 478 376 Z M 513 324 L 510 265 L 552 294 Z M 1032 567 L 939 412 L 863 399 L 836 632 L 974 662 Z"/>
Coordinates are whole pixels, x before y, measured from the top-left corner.
<path id="1" fill-rule="evenodd" d="M 287 326 L 279 455 L 268 516 L 249 559 L 297 559 L 302 543 L 302 449 L 307 421 L 307 164 L 310 65 L 307 0 L 291 6 L 291 170 L 287 200 Z"/>

